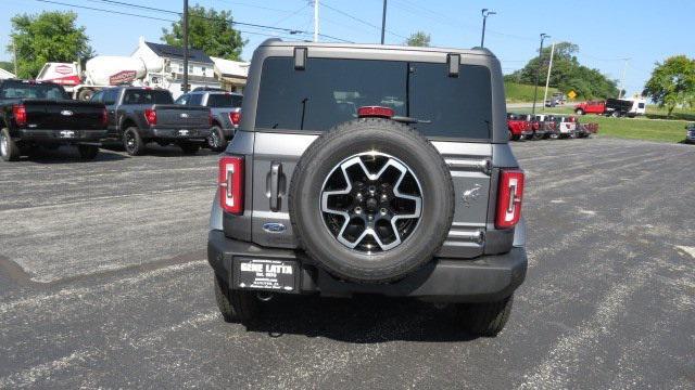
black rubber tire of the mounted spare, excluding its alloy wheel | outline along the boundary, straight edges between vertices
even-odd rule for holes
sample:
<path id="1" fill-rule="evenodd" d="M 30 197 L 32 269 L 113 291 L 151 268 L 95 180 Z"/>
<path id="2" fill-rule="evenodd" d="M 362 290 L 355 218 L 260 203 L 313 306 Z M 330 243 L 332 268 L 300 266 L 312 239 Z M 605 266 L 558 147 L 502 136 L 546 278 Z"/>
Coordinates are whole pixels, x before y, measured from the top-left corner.
<path id="1" fill-rule="evenodd" d="M 451 227 L 454 196 L 451 174 L 429 141 L 407 132 L 378 132 L 370 125 L 392 129 L 402 126 L 386 120 L 352 121 L 334 130 L 346 136 L 327 133 L 330 141 L 320 143 L 320 147 L 313 147 L 316 142 L 309 146 L 302 157 L 307 162 L 300 162 L 302 168 L 292 178 L 290 218 L 301 245 L 329 272 L 356 282 L 378 283 L 403 277 L 432 258 Z M 338 242 L 320 210 L 323 185 L 333 168 L 350 156 L 369 151 L 402 160 L 422 192 L 422 212 L 415 230 L 399 246 L 374 255 Z"/>

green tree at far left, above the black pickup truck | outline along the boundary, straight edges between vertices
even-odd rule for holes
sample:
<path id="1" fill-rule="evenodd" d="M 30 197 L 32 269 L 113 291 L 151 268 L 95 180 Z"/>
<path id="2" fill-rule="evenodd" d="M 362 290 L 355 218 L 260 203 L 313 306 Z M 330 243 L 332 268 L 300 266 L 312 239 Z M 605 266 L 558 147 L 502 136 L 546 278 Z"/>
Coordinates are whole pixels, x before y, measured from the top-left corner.
<path id="1" fill-rule="evenodd" d="M 84 62 L 94 55 L 85 27 L 74 12 L 42 12 L 12 17 L 10 36 L 16 43 L 17 77 L 34 78 L 47 62 Z M 8 46 L 12 51 L 12 44 Z"/>

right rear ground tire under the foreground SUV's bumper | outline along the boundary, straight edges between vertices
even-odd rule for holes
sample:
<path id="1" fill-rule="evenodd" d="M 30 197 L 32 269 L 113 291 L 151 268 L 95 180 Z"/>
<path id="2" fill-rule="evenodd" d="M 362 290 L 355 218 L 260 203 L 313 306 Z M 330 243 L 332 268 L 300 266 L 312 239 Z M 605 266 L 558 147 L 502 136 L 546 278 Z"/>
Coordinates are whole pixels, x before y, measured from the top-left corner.
<path id="1" fill-rule="evenodd" d="M 464 328 L 478 336 L 497 336 L 509 320 L 513 297 L 498 302 L 459 303 L 458 315 Z"/>

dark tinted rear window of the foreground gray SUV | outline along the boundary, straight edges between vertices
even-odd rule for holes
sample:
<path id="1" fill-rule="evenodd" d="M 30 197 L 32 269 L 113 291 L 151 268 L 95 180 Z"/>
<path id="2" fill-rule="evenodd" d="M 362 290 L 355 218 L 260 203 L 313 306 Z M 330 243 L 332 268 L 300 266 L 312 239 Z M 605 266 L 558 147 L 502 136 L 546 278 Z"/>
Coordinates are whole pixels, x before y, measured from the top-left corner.
<path id="1" fill-rule="evenodd" d="M 357 117 L 361 106 L 386 106 L 430 138 L 489 139 L 490 70 L 446 64 L 309 58 L 295 70 L 292 57 L 263 64 L 256 128 L 321 132 Z"/>

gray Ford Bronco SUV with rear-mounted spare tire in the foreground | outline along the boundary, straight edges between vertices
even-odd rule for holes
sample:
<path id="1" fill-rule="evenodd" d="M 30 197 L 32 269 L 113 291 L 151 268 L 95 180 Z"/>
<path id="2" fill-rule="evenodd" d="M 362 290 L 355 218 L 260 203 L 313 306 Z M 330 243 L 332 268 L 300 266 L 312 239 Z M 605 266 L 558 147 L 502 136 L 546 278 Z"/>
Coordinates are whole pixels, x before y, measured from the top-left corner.
<path id="1" fill-rule="evenodd" d="M 207 240 L 226 321 L 280 294 L 376 294 L 502 330 L 527 270 L 523 172 L 490 51 L 270 39 L 244 94 Z"/>

